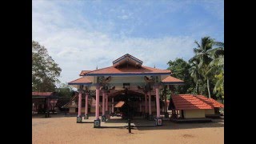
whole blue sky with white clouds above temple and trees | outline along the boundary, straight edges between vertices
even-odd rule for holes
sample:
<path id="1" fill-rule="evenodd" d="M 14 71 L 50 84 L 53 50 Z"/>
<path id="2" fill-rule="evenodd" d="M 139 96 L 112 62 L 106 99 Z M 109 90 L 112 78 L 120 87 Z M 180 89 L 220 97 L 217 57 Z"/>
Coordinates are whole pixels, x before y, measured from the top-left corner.
<path id="1" fill-rule="evenodd" d="M 224 41 L 224 1 L 32 2 L 32 38 L 62 68 L 61 82 L 127 53 L 166 69 L 169 60 L 190 59 L 204 36 Z"/>

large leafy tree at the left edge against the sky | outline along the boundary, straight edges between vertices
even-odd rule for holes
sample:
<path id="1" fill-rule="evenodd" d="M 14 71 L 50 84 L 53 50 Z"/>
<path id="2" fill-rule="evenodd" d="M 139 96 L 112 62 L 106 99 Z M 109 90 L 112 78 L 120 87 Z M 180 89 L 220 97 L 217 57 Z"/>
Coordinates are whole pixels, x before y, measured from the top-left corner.
<path id="1" fill-rule="evenodd" d="M 32 90 L 54 91 L 61 71 L 46 48 L 32 41 Z"/>

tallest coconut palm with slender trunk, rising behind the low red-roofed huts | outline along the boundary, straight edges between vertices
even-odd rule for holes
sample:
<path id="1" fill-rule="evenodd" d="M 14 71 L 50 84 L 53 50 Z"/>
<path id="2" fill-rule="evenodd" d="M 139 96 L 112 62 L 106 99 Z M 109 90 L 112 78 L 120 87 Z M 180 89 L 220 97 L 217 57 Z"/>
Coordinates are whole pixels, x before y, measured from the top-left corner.
<path id="1" fill-rule="evenodd" d="M 195 41 L 194 43 L 197 44 L 197 47 L 194 48 L 195 56 L 190 59 L 190 62 L 199 60 L 198 68 L 201 70 L 202 76 L 207 81 L 208 96 L 210 98 L 210 75 L 206 75 L 206 73 L 209 70 L 208 65 L 213 60 L 213 58 L 210 57 L 210 54 L 212 53 L 211 49 L 214 46 L 214 39 L 210 37 L 204 37 L 201 39 L 200 43 L 197 41 Z"/>

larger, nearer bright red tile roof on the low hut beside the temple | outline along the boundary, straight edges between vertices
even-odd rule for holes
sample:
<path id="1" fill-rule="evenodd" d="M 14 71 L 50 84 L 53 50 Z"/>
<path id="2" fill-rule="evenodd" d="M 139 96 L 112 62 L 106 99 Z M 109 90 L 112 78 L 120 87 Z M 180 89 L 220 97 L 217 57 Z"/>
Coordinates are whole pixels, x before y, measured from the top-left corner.
<path id="1" fill-rule="evenodd" d="M 173 94 L 172 99 L 176 110 L 213 109 L 212 106 L 194 97 L 193 94 Z"/>

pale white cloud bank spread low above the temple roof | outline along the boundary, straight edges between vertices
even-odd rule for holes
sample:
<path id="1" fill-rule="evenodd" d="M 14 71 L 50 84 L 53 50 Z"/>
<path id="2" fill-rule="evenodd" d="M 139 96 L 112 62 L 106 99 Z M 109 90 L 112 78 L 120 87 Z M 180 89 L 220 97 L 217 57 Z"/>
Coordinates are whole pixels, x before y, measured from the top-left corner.
<path id="1" fill-rule="evenodd" d="M 141 59 L 143 65 L 156 65 L 160 69 L 166 69 L 169 60 L 186 59 L 193 54 L 194 38 L 116 38 L 110 33 L 94 30 L 94 26 L 79 14 L 73 17 L 72 20 L 77 19 L 76 22 L 82 22 L 84 26 L 75 26 L 75 21 L 64 17 L 62 9 L 54 3 L 33 2 L 33 40 L 46 46 L 50 56 L 62 68 L 62 82 L 78 78 L 81 70 L 111 66 L 123 54 L 132 54 Z"/>

